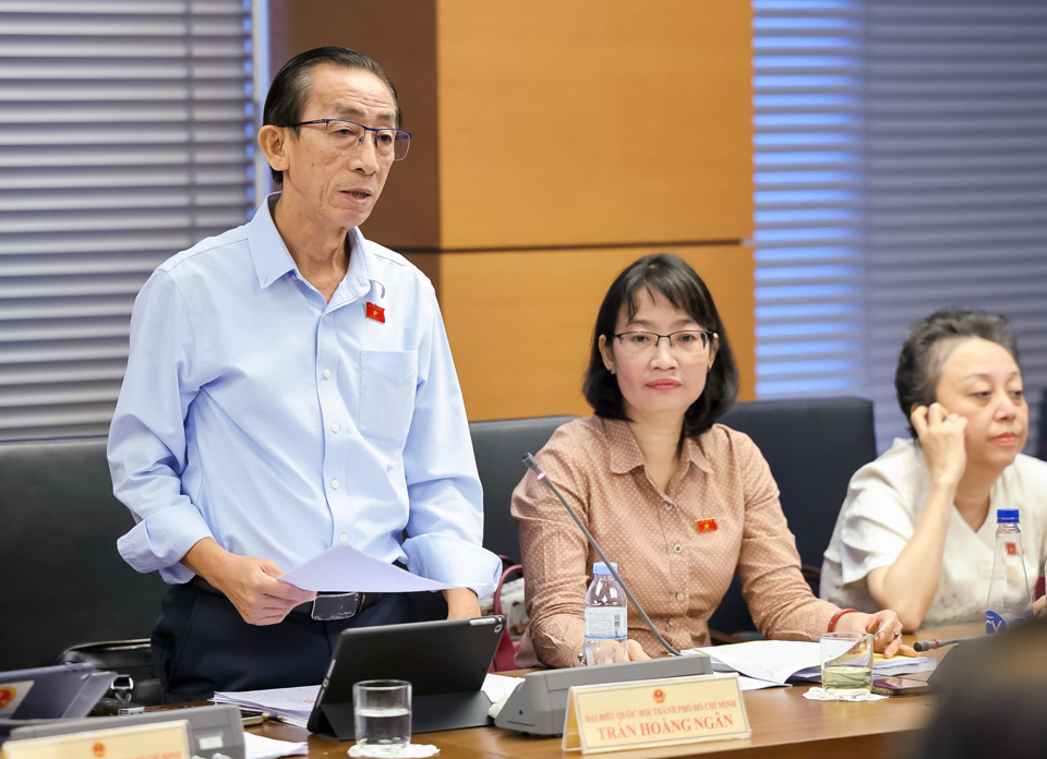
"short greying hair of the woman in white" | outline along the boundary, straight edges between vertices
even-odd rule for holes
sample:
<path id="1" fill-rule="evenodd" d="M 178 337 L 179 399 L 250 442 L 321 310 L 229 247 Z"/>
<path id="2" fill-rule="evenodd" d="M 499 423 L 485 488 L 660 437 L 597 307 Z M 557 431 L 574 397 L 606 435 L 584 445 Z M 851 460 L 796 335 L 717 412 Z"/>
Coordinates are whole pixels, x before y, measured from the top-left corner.
<path id="1" fill-rule="evenodd" d="M 941 365 L 956 342 L 972 337 L 996 342 L 1021 366 L 1018 360 L 1018 340 L 1011 332 L 1007 316 L 967 309 L 936 311 L 912 326 L 898 357 L 894 390 L 905 419 L 910 419 L 914 406 L 930 406 L 937 400 Z M 912 420 L 908 422 L 908 431 L 913 439 L 919 438 Z"/>

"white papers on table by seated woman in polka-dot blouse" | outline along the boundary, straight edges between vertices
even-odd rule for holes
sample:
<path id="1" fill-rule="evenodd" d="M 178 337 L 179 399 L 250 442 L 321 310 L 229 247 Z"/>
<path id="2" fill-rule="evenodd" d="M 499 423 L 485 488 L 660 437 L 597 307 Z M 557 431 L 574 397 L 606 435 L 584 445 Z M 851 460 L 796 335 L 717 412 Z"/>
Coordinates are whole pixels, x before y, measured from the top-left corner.
<path id="1" fill-rule="evenodd" d="M 784 685 L 790 678 L 819 680 L 821 667 L 817 642 L 798 640 L 756 640 L 733 646 L 706 646 L 695 649 L 708 653 L 718 672 L 741 672 L 743 675 Z M 929 672 L 937 660 L 931 656 L 893 656 L 876 654 L 874 677 L 894 677 L 913 672 Z"/>

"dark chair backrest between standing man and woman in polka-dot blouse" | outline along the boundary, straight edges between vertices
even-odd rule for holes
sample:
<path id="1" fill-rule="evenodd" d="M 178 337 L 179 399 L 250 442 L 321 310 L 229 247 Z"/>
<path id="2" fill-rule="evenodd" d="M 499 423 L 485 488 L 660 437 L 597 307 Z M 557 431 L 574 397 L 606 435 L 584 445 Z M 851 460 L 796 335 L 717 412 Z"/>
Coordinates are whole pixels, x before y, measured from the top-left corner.
<path id="1" fill-rule="evenodd" d="M 483 547 L 507 556 L 510 564 L 520 561 L 520 537 L 509 514 L 513 489 L 527 471 L 520 459 L 524 454 L 537 454 L 556 427 L 571 419 L 532 417 L 469 423 L 483 485 Z"/>

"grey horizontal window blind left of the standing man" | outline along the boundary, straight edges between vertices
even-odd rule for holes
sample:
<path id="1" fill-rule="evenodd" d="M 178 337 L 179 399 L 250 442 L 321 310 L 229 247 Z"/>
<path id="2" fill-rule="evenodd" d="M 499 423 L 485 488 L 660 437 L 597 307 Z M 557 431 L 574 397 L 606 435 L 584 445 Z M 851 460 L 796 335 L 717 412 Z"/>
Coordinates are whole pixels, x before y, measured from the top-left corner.
<path id="1" fill-rule="evenodd" d="M 250 0 L 0 0 L 0 439 L 106 434 L 134 296 L 254 206 Z"/>

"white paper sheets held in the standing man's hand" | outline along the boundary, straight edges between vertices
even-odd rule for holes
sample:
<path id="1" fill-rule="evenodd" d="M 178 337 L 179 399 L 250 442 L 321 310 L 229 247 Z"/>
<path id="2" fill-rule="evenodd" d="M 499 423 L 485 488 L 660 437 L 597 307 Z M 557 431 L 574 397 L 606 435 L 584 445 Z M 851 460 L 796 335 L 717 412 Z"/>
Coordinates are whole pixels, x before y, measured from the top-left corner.
<path id="1" fill-rule="evenodd" d="M 351 545 L 327 549 L 280 579 L 302 590 L 336 593 L 409 593 L 460 586 L 412 575 L 393 564 L 365 556 Z"/>

